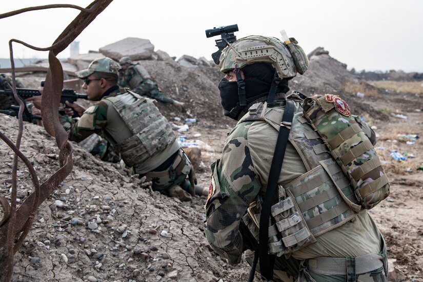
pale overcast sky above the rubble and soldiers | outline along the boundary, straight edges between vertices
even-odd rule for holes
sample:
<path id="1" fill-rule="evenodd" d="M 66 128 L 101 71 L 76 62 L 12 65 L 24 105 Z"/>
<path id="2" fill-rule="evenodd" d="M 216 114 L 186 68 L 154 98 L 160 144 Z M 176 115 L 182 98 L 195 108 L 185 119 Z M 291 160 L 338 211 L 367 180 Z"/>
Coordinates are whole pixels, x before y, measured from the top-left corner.
<path id="1" fill-rule="evenodd" d="M 90 0 L 2 0 L 0 13 L 31 6 Z M 261 6 L 262 5 L 262 6 Z M 0 19 L 0 57 L 9 57 L 8 41 L 20 39 L 48 47 L 79 11 L 49 9 Z M 205 30 L 238 24 L 237 38 L 252 34 L 280 38 L 285 29 L 306 53 L 324 47 L 348 69 L 423 72 L 423 1 L 188 1 L 114 0 L 78 37 L 80 53 L 126 37 L 149 39 L 155 50 L 211 59 L 217 50 Z M 16 58 L 47 57 L 19 44 Z M 67 58 L 69 49 L 58 57 Z"/>

